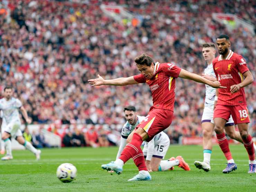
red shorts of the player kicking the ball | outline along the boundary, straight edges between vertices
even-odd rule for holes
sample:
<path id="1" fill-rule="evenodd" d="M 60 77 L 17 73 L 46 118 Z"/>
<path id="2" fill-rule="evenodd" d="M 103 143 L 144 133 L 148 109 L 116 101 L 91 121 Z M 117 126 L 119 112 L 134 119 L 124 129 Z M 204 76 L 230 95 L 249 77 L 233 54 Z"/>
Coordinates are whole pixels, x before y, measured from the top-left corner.
<path id="1" fill-rule="evenodd" d="M 138 127 L 143 128 L 149 137 L 146 141 L 149 142 L 155 135 L 169 127 L 172 123 L 172 119 L 172 111 L 153 108 L 149 111 L 145 119 L 137 125 L 136 129 Z"/>

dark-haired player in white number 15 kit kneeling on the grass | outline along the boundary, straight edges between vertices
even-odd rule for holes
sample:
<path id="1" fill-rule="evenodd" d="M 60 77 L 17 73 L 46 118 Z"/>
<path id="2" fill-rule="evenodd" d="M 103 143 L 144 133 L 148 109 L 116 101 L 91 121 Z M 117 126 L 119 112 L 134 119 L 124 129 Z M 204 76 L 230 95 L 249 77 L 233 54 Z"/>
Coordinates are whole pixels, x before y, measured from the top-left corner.
<path id="1" fill-rule="evenodd" d="M 144 116 L 137 115 L 134 106 L 128 106 L 124 108 L 124 112 L 127 122 L 122 128 L 120 146 L 116 159 L 120 157 L 122 150 L 126 146 L 129 135 L 133 134 L 132 132 L 136 126 L 145 118 Z M 183 160 L 181 156 L 177 156 L 176 158 L 171 157 L 169 160 L 162 160 L 164 159 L 169 146 L 170 139 L 164 132 L 158 133 L 150 142 L 145 142 L 143 154 L 149 172 L 173 170 L 173 166 L 175 165 L 186 171 L 190 170 L 189 165 Z"/>

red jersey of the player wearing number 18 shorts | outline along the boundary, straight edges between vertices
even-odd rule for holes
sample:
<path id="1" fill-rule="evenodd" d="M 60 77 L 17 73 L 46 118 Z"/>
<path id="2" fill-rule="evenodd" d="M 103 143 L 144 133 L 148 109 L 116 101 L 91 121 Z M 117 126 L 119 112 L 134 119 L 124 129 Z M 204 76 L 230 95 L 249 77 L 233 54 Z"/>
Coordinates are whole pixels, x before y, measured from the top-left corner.
<path id="1" fill-rule="evenodd" d="M 213 60 L 212 65 L 221 86 L 227 87 L 226 89 L 219 89 L 217 103 L 220 105 L 246 105 L 244 88 L 240 88 L 236 93 L 230 93 L 230 86 L 241 83 L 243 74 L 249 70 L 245 59 L 229 50 L 225 60 L 220 55 Z"/>

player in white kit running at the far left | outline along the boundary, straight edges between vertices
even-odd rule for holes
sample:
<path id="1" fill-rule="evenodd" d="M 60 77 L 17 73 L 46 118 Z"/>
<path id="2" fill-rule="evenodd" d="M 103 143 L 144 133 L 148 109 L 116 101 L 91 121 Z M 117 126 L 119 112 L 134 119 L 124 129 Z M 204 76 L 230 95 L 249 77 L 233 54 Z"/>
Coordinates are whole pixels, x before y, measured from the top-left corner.
<path id="1" fill-rule="evenodd" d="M 20 109 L 23 117 L 27 123 L 31 123 L 28 118 L 26 109 L 22 106 L 21 101 L 17 98 L 12 97 L 13 90 L 12 87 L 4 88 L 4 98 L 0 99 L 0 110 L 3 111 L 3 122 L 1 126 L 2 140 L 4 141 L 6 148 L 6 155 L 1 158 L 1 160 L 11 160 L 13 159 L 11 153 L 11 140 L 10 136 L 15 138 L 21 145 L 24 145 L 29 151 L 36 155 L 36 159 L 40 159 L 40 150 L 37 150 L 32 146 L 31 143 L 26 142 L 22 136 L 20 126 L 19 111 Z"/>

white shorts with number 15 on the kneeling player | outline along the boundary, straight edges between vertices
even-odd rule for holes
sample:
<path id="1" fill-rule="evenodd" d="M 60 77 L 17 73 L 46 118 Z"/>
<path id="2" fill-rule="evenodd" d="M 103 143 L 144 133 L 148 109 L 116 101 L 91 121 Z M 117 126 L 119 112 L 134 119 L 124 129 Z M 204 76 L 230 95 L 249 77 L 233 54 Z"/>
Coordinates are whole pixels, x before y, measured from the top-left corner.
<path id="1" fill-rule="evenodd" d="M 167 153 L 169 146 L 170 146 L 169 139 L 168 141 L 156 144 L 154 147 L 154 152 L 152 157 L 164 159 L 164 156 Z M 143 154 L 145 158 L 147 156 L 147 151 L 148 151 L 148 143 L 146 142 L 143 148 Z"/>

